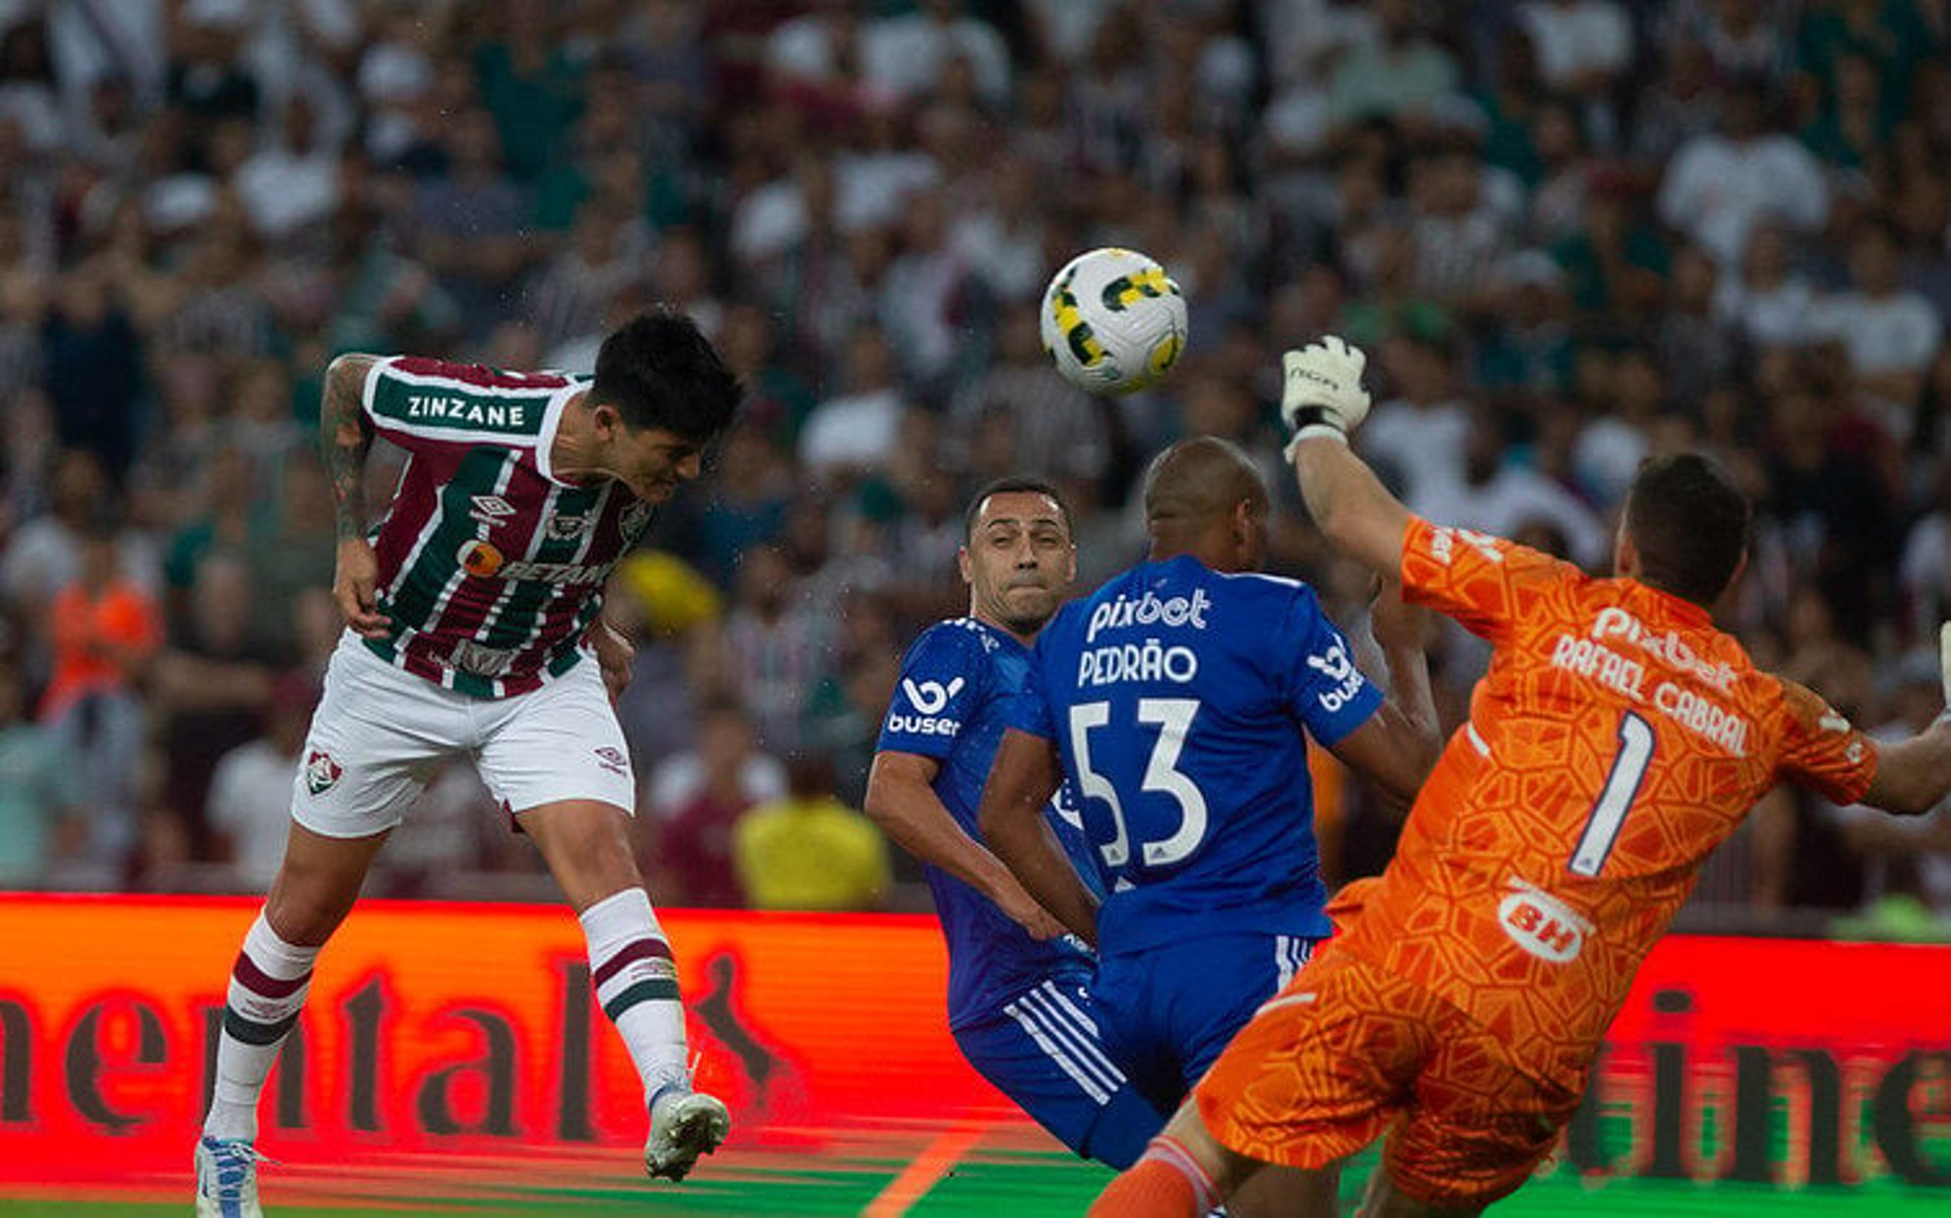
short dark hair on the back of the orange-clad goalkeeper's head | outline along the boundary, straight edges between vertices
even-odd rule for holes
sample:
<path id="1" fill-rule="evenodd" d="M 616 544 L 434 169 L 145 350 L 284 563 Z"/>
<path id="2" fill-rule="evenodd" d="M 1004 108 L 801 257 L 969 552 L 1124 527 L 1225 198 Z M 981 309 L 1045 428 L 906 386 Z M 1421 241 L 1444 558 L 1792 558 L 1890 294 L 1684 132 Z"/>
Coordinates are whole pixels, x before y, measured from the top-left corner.
<path id="1" fill-rule="evenodd" d="M 1625 494 L 1625 531 L 1641 580 L 1713 605 L 1748 548 L 1748 496 L 1709 457 L 1651 457 Z"/>

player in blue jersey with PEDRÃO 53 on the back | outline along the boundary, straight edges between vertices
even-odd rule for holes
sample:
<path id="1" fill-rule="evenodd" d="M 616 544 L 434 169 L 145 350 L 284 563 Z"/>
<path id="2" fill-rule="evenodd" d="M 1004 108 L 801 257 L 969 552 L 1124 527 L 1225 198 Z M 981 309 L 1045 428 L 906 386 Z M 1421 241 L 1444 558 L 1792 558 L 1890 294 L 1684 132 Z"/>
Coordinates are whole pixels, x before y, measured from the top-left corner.
<path id="1" fill-rule="evenodd" d="M 1311 588 L 1253 574 L 1268 496 L 1237 447 L 1180 441 L 1151 463 L 1143 494 L 1151 560 L 1044 629 L 979 828 L 1044 908 L 1096 943 L 1104 1042 L 1173 1109 L 1329 933 L 1303 728 L 1405 804 L 1440 738 L 1420 611 L 1377 599 L 1385 701 Z M 1059 777 L 1083 796 L 1102 906 L 1040 814 Z M 1243 1191 L 1237 1212 L 1321 1204 L 1282 1191 L 1333 1177 L 1254 1185 L 1258 1202 Z"/>

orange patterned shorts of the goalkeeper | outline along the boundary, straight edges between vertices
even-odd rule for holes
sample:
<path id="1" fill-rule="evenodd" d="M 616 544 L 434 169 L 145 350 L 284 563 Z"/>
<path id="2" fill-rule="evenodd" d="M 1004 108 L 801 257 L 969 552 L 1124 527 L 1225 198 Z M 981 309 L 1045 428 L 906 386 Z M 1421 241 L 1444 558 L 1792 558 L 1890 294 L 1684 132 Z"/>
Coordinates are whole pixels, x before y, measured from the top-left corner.
<path id="1" fill-rule="evenodd" d="M 1194 1097 L 1214 1138 L 1266 1163 L 1323 1167 L 1387 1132 L 1389 1179 L 1438 1206 L 1514 1193 L 1578 1109 L 1448 1001 L 1333 947 L 1260 1007 Z"/>

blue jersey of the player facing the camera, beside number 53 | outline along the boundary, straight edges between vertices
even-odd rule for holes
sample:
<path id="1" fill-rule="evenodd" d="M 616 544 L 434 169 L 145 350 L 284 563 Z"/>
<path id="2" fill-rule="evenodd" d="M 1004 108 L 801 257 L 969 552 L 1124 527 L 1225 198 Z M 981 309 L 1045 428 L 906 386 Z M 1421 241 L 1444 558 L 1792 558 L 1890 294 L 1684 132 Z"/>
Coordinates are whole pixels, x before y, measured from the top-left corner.
<path id="1" fill-rule="evenodd" d="M 970 837 L 981 839 L 976 808 L 1003 740 L 1005 709 L 1022 691 L 1030 652 L 1009 632 L 974 617 L 929 627 L 901 660 L 880 750 L 940 761 L 935 794 Z M 1059 804 L 1063 792 L 1057 792 Z M 1091 867 L 1083 835 L 1063 816 L 1052 818 L 1057 839 L 1079 867 Z M 1071 937 L 1038 941 L 956 876 L 927 869 L 935 910 L 948 939 L 948 1027 L 989 1017 L 1001 1003 L 1050 978 L 1083 970 L 1091 956 Z"/>

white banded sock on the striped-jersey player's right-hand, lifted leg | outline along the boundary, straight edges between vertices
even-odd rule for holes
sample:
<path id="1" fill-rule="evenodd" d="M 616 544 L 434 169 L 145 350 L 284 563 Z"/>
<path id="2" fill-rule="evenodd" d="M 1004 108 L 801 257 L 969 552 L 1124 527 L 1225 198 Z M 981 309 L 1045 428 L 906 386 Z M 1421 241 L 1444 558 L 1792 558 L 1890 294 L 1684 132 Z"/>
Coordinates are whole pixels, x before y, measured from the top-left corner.
<path id="1" fill-rule="evenodd" d="M 689 1087 L 677 962 L 650 896 L 642 888 L 624 888 L 583 910 L 579 921 L 589 941 L 597 1003 L 617 1025 L 644 1079 L 644 1101 L 663 1087 Z"/>

